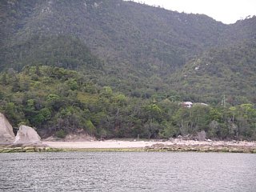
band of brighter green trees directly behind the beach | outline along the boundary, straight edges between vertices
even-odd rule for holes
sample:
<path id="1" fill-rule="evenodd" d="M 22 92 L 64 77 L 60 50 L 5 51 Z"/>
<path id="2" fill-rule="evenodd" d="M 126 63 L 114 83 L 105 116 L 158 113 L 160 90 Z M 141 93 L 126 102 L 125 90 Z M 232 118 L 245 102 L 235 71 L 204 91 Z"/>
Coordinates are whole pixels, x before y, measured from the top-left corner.
<path id="1" fill-rule="evenodd" d="M 11 123 L 37 127 L 45 137 L 64 138 L 79 129 L 98 138 L 170 138 L 202 130 L 208 138 L 256 137 L 256 109 L 250 103 L 186 108 L 176 95 L 130 97 L 52 66 L 2 72 L 0 87 L 1 111 Z"/>

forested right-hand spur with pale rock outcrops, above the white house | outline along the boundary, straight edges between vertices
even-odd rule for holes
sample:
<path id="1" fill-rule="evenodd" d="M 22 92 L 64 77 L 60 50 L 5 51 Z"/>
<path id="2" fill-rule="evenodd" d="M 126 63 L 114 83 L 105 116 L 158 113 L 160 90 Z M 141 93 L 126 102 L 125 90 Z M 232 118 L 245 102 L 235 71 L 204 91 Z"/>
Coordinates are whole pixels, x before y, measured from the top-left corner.
<path id="1" fill-rule="evenodd" d="M 256 41 L 212 49 L 186 63 L 171 79 L 187 94 L 201 94 L 202 100 L 227 102 L 256 102 Z M 249 101 L 247 100 L 249 98 Z"/>

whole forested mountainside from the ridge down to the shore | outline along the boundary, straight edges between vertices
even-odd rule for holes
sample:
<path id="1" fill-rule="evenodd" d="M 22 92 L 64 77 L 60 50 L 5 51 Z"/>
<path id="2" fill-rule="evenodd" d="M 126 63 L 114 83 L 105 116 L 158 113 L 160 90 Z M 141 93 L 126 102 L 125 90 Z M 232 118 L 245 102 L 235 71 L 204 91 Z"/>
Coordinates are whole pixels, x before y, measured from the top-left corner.
<path id="1" fill-rule="evenodd" d="M 14 128 L 256 139 L 256 17 L 225 25 L 122 0 L 3 0 L 0 11 L 0 111 Z"/>

